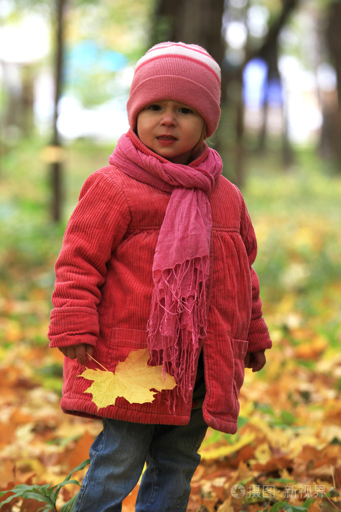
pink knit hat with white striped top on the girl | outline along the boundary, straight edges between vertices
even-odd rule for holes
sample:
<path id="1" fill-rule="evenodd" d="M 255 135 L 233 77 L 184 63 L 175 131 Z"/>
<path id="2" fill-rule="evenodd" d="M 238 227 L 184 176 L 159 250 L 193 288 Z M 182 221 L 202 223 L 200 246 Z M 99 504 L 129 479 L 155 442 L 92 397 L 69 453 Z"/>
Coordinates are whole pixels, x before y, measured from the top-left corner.
<path id="1" fill-rule="evenodd" d="M 171 99 L 192 106 L 207 124 L 207 137 L 216 130 L 220 117 L 220 68 L 211 55 L 197 45 L 163 42 L 153 46 L 137 62 L 127 112 L 129 125 L 144 106 Z"/>

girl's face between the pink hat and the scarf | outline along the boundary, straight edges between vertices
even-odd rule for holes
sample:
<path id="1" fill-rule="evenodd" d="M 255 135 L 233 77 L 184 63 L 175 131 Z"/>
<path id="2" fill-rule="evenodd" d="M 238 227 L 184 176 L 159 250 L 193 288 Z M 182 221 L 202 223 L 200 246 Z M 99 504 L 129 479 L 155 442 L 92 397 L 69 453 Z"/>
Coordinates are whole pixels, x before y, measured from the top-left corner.
<path id="1" fill-rule="evenodd" d="M 205 122 L 196 110 L 173 100 L 150 103 L 137 118 L 140 140 L 154 153 L 181 164 L 189 162 L 204 126 Z"/>

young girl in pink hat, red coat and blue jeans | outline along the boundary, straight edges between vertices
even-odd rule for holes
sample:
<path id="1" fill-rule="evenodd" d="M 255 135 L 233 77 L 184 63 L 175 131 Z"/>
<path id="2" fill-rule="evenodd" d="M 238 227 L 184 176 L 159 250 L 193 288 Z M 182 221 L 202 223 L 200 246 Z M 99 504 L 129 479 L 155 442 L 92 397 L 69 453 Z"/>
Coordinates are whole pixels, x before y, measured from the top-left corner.
<path id="1" fill-rule="evenodd" d="M 244 367 L 271 342 L 240 191 L 204 139 L 216 130 L 220 68 L 196 45 L 165 42 L 137 63 L 130 130 L 85 182 L 56 263 L 49 338 L 65 356 L 62 409 L 102 418 L 76 512 L 186 510 L 208 425 L 235 433 Z M 115 120 L 113 120 L 115 122 Z M 174 376 L 152 403 L 97 409 L 85 365 L 115 372 L 131 351 Z"/>

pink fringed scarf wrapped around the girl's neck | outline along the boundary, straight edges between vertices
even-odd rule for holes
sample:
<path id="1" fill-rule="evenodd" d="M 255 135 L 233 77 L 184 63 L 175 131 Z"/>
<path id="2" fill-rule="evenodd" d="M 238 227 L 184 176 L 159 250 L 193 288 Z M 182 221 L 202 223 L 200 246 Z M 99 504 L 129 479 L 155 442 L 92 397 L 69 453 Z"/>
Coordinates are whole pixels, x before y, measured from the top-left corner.
<path id="1" fill-rule="evenodd" d="M 199 339 L 206 335 L 212 234 L 208 194 L 221 174 L 221 158 L 204 143 L 203 152 L 189 165 L 174 164 L 149 150 L 129 130 L 119 139 L 109 163 L 172 193 L 154 254 L 147 343 L 151 364 L 162 364 L 174 375 L 184 396 L 191 387 Z"/>

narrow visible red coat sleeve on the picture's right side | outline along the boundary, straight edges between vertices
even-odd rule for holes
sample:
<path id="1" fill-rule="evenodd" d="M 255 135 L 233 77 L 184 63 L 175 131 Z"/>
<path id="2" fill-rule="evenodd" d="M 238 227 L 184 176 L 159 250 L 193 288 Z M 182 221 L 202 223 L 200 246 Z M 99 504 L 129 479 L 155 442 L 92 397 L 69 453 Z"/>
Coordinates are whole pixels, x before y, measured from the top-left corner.
<path id="1" fill-rule="evenodd" d="M 252 313 L 247 334 L 248 351 L 256 352 L 258 350 L 269 349 L 272 344 L 267 325 L 263 318 L 262 301 L 259 296 L 260 286 L 258 275 L 252 267 L 257 255 L 256 234 L 243 198 L 241 209 L 241 236 L 246 248 L 252 284 Z"/>

